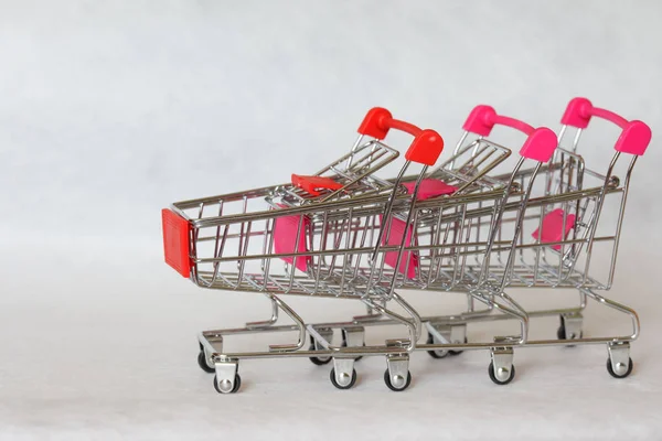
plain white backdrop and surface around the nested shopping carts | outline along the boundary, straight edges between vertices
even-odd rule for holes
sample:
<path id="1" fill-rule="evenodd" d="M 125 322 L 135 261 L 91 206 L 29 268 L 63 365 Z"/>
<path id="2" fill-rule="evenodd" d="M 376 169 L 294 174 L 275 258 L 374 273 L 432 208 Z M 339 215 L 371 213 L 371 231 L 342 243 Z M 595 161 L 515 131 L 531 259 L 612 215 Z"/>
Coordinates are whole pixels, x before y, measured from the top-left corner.
<path id="1" fill-rule="evenodd" d="M 373 106 L 449 144 L 477 104 L 556 129 L 574 96 L 659 133 L 661 17 L 654 0 L 0 1 L 0 439 L 660 437 L 655 137 L 609 293 L 642 321 L 624 380 L 609 377 L 600 345 L 517 351 L 508 387 L 489 380 L 485 352 L 417 353 L 402 394 L 384 386 L 382 358 L 362 361 L 345 391 L 328 366 L 246 362 L 242 392 L 218 396 L 196 366 L 196 332 L 269 305 L 167 267 L 160 208 L 312 173 L 351 147 Z M 617 135 L 599 127 L 583 144 L 589 163 L 610 158 Z M 563 295 L 522 292 L 534 306 L 575 300 Z M 412 299 L 426 312 L 462 304 Z M 292 305 L 310 321 L 362 312 Z M 556 319 L 536 323 L 533 336 L 554 335 Z M 586 312 L 586 335 L 621 327 Z"/>

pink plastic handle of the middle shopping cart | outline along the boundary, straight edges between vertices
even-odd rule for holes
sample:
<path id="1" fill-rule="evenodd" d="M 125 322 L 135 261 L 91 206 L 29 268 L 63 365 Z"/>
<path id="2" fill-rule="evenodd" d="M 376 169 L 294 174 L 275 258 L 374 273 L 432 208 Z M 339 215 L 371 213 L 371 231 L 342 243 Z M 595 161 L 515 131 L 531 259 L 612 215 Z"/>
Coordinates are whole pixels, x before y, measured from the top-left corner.
<path id="1" fill-rule="evenodd" d="M 524 158 L 547 162 L 558 146 L 558 139 L 552 129 L 534 128 L 522 120 L 498 115 L 492 107 L 485 105 L 476 106 L 462 128 L 472 133 L 489 137 L 496 125 L 511 127 L 527 136 L 520 149 L 520 154 Z"/>

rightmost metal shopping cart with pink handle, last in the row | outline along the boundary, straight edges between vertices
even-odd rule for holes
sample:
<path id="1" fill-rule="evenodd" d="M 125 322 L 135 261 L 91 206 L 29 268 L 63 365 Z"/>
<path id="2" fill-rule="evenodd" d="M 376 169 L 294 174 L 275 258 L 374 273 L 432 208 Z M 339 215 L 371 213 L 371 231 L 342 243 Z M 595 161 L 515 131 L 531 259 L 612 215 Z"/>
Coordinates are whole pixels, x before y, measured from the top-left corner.
<path id="1" fill-rule="evenodd" d="M 581 131 L 588 127 L 592 117 L 607 119 L 621 129 L 615 144 L 616 153 L 605 174 L 588 169 L 577 153 Z M 498 228 L 493 230 L 493 239 L 490 239 L 493 256 L 488 256 L 483 261 L 481 276 L 487 278 L 487 282 L 471 294 L 492 309 L 495 305 L 493 299 L 502 297 L 511 288 L 577 289 L 580 303 L 573 308 L 533 312 L 515 308 L 521 313 L 519 320 L 522 334 L 496 337 L 491 349 L 489 374 L 496 384 L 508 384 L 514 377 L 513 347 L 559 345 L 566 344 L 568 340 L 573 341 L 573 345 L 607 344 L 607 370 L 613 377 L 627 377 L 632 370 L 629 348 L 630 342 L 639 335 L 637 313 L 597 291 L 611 288 L 632 169 L 638 157 L 644 153 L 651 131 L 641 121 L 628 121 L 613 112 L 594 107 L 584 98 L 575 98 L 569 103 L 562 123 L 559 147 L 555 150 L 553 160 L 546 165 L 537 164 L 534 169 L 520 170 L 510 175 L 521 187 L 528 186 L 531 190 L 524 196 L 513 193 L 504 204 Z M 563 146 L 572 128 L 577 130 L 572 146 L 565 148 Z M 624 168 L 624 181 L 621 183 L 616 169 L 622 162 L 619 160 L 623 153 L 631 154 L 632 159 Z M 543 185 L 536 189 L 534 176 L 538 172 L 545 179 L 540 182 Z M 506 176 L 509 175 L 495 179 Z M 605 214 L 606 207 L 612 208 L 611 213 Z M 600 265 L 596 265 L 594 257 L 597 249 L 601 256 Z M 436 288 L 433 286 L 426 289 Z M 632 333 L 626 336 L 584 337 L 581 311 L 587 299 L 594 299 L 629 316 Z M 557 340 L 528 340 L 528 320 L 552 314 L 560 315 Z M 508 318 L 506 314 L 455 316 L 430 321 L 427 326 L 430 335 L 437 336 L 438 327 L 461 327 L 481 320 Z M 428 340 L 428 343 L 436 343 L 436 340 Z M 474 346 L 468 345 L 465 348 Z M 446 346 L 433 344 L 420 345 L 418 348 L 434 351 L 444 347 Z"/>

